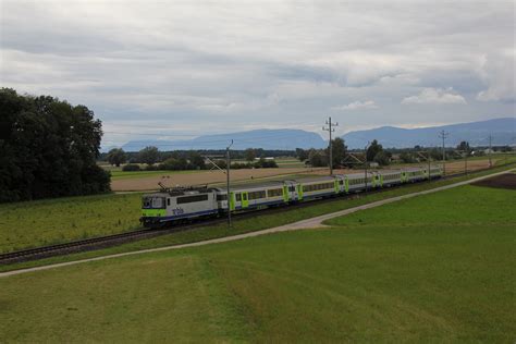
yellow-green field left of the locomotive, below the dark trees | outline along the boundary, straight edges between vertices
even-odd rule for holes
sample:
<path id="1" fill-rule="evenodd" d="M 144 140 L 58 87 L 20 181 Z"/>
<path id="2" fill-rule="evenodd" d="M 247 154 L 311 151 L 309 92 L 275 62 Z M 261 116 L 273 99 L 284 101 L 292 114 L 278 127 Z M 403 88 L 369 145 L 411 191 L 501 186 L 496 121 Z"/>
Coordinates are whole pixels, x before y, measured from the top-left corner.
<path id="1" fill-rule="evenodd" d="M 0 205 L 0 253 L 139 228 L 142 194 Z"/>

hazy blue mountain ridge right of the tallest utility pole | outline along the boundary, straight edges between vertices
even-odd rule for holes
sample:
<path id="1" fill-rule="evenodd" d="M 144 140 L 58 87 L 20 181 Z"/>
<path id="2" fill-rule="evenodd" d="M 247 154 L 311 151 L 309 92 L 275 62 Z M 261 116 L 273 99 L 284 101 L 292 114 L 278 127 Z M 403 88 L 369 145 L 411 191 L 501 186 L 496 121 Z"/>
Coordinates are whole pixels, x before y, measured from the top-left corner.
<path id="1" fill-rule="evenodd" d="M 368 131 L 349 132 L 342 138 L 349 148 L 364 148 L 368 142 L 378 139 L 386 148 L 406 148 L 419 146 L 440 146 L 442 140 L 439 133 L 449 133 L 446 146 L 456 146 L 466 140 L 470 146 L 489 145 L 489 135 L 492 135 L 492 145 L 502 146 L 513 144 L 516 133 L 516 119 L 495 119 L 481 122 L 459 123 L 442 126 L 401 128 L 382 126 Z"/>

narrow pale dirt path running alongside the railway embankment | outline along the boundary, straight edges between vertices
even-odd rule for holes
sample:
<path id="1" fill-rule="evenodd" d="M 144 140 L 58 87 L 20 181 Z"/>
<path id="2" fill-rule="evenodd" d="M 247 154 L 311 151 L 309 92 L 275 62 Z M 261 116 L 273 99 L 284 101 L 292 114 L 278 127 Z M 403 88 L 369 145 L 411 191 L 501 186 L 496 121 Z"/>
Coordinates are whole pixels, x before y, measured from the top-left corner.
<path id="1" fill-rule="evenodd" d="M 225 236 L 225 237 L 220 237 L 220 238 L 212 238 L 212 239 L 197 242 L 197 243 L 189 243 L 189 244 L 182 244 L 182 245 L 174 245 L 174 246 L 165 246 L 165 247 L 159 247 L 159 248 L 149 248 L 149 249 L 143 249 L 143 250 L 137 250 L 137 251 L 131 251 L 131 253 L 123 253 L 123 254 L 116 254 L 116 255 L 110 255 L 110 256 L 103 256 L 103 257 L 96 257 L 96 258 L 89 258 L 89 259 L 83 259 L 83 260 L 76 260 L 76 261 L 61 262 L 61 263 L 44 266 L 44 267 L 28 268 L 28 269 L 15 270 L 15 271 L 9 271 L 9 272 L 0 272 L 0 278 L 22 274 L 22 273 L 27 273 L 27 272 L 34 272 L 34 271 L 41 271 L 41 270 L 74 266 L 74 265 L 89 262 L 89 261 L 97 261 L 97 260 L 112 259 L 112 258 L 119 258 L 119 257 L 142 255 L 142 254 L 148 254 L 148 253 L 157 253 L 157 251 L 162 251 L 162 250 L 181 249 L 181 248 L 187 248 L 187 247 L 197 247 L 197 246 L 205 246 L 205 245 L 211 245 L 211 244 L 226 243 L 226 242 L 239 241 L 239 239 L 247 238 L 247 237 L 254 237 L 254 236 L 271 234 L 271 233 L 324 228 L 325 225 L 322 224 L 322 222 L 325 221 L 325 220 L 342 217 L 342 216 L 345 216 L 345 214 L 348 214 L 348 213 L 352 213 L 352 212 L 356 212 L 356 211 L 360 211 L 360 210 L 365 210 L 365 209 L 380 207 L 380 206 L 383 206 L 383 205 L 386 205 L 386 204 L 392 204 L 392 202 L 395 202 L 395 201 L 398 201 L 398 200 L 402 200 L 402 199 L 407 199 L 407 198 L 411 198 L 411 197 L 416 197 L 416 196 L 420 196 L 420 195 L 432 194 L 432 193 L 450 189 L 450 188 L 453 188 L 453 187 L 480 182 L 482 180 L 491 179 L 493 176 L 505 174 L 508 171 L 497 172 L 497 173 L 493 173 L 493 174 L 489 174 L 489 175 L 484 175 L 484 176 L 479 176 L 479 177 L 468 180 L 468 181 L 464 181 L 464 182 L 458 182 L 458 183 L 454 183 L 454 184 L 450 184 L 450 185 L 445 185 L 445 186 L 435 187 L 435 188 L 423 191 L 423 192 L 418 192 L 418 193 L 407 194 L 407 195 L 392 197 L 392 198 L 388 198 L 388 199 L 382 199 L 382 200 L 378 200 L 378 201 L 367 204 L 367 205 L 364 205 L 364 206 L 354 207 L 354 208 L 349 208 L 349 209 L 346 209 L 346 210 L 341 210 L 341 211 L 336 211 L 336 212 L 332 212 L 332 213 L 327 213 L 327 214 L 323 214 L 323 216 L 320 216 L 320 217 L 316 217 L 316 218 L 311 218 L 311 219 L 307 219 L 307 220 L 303 220 L 303 221 L 294 222 L 294 223 L 291 223 L 291 224 L 285 224 L 285 225 L 272 228 L 272 229 L 267 229 L 267 230 L 262 230 L 262 231 L 244 233 L 244 234 L 238 234 L 238 235 L 233 235 L 233 236 Z"/>

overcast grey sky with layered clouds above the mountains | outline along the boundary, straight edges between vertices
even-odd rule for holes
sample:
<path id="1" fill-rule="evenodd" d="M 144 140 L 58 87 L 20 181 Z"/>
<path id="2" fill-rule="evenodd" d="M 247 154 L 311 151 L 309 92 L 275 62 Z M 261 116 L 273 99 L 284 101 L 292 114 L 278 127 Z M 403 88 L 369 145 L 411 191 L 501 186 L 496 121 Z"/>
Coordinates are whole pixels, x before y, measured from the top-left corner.
<path id="1" fill-rule="evenodd" d="M 88 106 L 105 146 L 515 115 L 514 1 L 0 3 L 0 86 Z"/>

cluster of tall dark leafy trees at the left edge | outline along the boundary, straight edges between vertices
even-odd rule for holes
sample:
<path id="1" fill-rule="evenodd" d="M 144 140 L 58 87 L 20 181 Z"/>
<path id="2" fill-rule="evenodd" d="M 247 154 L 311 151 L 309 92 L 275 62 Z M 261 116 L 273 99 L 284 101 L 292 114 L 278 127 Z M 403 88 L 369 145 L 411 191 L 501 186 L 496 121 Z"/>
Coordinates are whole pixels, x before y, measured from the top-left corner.
<path id="1" fill-rule="evenodd" d="M 0 201 L 110 189 L 96 164 L 101 123 L 85 106 L 0 89 Z"/>

